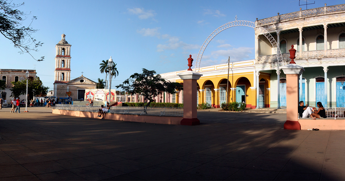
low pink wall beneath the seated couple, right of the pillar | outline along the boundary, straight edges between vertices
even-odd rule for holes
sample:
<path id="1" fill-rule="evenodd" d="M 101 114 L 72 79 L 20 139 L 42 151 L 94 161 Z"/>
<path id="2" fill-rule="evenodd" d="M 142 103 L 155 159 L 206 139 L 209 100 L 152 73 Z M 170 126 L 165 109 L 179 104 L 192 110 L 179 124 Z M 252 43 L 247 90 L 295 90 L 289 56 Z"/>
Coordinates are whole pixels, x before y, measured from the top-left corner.
<path id="1" fill-rule="evenodd" d="M 301 130 L 317 128 L 320 130 L 345 130 L 345 119 L 299 119 Z"/>

